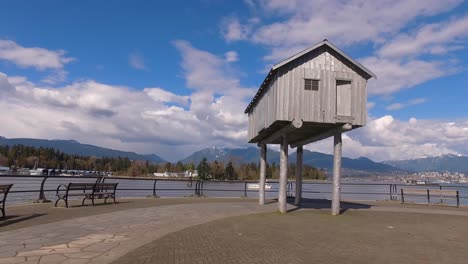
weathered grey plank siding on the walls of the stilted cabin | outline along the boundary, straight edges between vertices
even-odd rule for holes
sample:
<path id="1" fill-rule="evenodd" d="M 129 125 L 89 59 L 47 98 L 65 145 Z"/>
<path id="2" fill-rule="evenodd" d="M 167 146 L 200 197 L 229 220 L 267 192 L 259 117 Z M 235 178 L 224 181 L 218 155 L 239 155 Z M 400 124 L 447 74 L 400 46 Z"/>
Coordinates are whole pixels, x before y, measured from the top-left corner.
<path id="1" fill-rule="evenodd" d="M 366 79 L 338 57 L 322 47 L 280 67 L 268 91 L 249 113 L 249 140 L 276 120 L 337 123 L 336 80 L 351 81 L 352 125 L 365 125 Z M 319 90 L 305 90 L 304 79 L 319 80 Z"/>

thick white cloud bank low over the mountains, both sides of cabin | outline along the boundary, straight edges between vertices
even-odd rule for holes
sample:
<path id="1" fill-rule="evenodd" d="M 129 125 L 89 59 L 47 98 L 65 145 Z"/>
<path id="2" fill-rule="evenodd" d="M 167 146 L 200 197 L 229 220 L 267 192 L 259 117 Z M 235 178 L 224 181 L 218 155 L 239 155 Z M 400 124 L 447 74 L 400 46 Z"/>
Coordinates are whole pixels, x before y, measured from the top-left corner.
<path id="1" fill-rule="evenodd" d="M 181 158 L 206 146 L 241 147 L 246 143 L 246 98 L 255 89 L 237 86 L 218 67 L 224 61 L 192 47 L 184 49 L 185 77 L 194 91 L 177 95 L 161 88 L 136 90 L 92 80 L 57 89 L 38 86 L 24 77 L 0 74 L 0 135 L 76 139 L 84 143 L 158 153 Z M 191 68 L 192 61 L 206 68 Z M 201 71 L 201 72 L 200 72 Z M 203 72 L 219 80 L 203 80 Z M 217 86 L 217 83 L 231 86 Z M 236 93 L 236 91 L 240 91 Z M 218 96 L 218 94 L 222 94 Z M 418 103 L 415 99 L 410 103 Z M 182 105 L 180 107 L 174 104 Z M 439 154 L 468 154 L 468 120 L 397 120 L 383 116 L 347 133 L 344 154 L 374 160 L 406 159 Z M 310 144 L 308 149 L 331 153 L 330 139 Z"/>

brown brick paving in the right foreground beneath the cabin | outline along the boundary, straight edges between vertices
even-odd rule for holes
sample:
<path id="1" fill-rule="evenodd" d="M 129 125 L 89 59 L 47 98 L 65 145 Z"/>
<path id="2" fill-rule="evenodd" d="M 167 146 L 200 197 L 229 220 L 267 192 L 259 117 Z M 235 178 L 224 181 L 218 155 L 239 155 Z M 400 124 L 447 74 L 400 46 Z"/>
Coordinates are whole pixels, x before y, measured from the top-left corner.
<path id="1" fill-rule="evenodd" d="M 171 233 L 114 264 L 466 264 L 468 214 L 453 214 L 422 207 L 349 210 L 339 217 L 328 210 L 233 217 Z"/>

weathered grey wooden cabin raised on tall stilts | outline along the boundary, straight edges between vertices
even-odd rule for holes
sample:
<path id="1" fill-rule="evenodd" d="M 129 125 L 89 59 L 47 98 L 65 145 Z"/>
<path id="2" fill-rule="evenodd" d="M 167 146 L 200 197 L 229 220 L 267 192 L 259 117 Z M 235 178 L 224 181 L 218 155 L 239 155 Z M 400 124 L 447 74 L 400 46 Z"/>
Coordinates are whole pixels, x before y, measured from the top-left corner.
<path id="1" fill-rule="evenodd" d="M 260 147 L 260 204 L 265 202 L 268 144 L 280 145 L 278 209 L 285 213 L 288 148 L 297 148 L 294 203 L 300 205 L 303 146 L 334 137 L 331 211 L 340 214 L 341 134 L 366 124 L 366 84 L 372 77 L 326 39 L 271 68 L 245 109 L 249 143 Z"/>

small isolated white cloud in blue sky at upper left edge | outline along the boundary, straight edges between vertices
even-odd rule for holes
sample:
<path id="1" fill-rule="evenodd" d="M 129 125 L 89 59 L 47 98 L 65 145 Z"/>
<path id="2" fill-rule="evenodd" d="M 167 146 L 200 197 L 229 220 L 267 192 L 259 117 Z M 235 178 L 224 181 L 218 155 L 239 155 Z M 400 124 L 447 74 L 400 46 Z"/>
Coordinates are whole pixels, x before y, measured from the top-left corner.
<path id="1" fill-rule="evenodd" d="M 7 60 L 23 68 L 46 70 L 62 69 L 75 59 L 65 56 L 64 50 L 23 47 L 14 41 L 0 39 L 0 60 Z"/>

